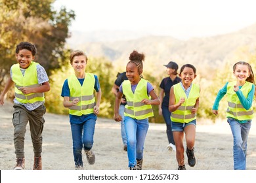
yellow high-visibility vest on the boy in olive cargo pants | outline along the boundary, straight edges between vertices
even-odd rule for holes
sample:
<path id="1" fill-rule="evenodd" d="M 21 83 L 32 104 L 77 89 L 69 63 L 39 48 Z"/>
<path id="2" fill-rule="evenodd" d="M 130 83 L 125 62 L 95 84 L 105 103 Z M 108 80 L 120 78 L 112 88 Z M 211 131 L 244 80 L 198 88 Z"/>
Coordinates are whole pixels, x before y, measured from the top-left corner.
<path id="1" fill-rule="evenodd" d="M 30 66 L 25 70 L 24 76 L 22 71 L 20 71 L 20 65 L 18 63 L 12 66 L 12 81 L 15 83 L 15 98 L 20 103 L 35 103 L 37 101 L 45 101 L 45 96 L 43 93 L 30 93 L 24 95 L 19 88 L 20 87 L 38 87 L 41 84 L 38 84 L 37 80 L 37 64 L 34 61 Z"/>

